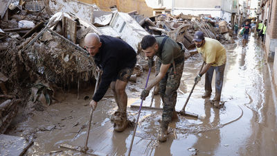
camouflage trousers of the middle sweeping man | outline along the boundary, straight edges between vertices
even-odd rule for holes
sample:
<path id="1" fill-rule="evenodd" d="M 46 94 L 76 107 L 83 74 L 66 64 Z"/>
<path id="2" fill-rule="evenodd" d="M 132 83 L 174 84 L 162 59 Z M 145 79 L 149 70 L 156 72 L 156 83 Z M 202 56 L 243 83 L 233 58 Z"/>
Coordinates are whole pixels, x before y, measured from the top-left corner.
<path id="1" fill-rule="evenodd" d="M 161 67 L 161 60 L 157 59 L 157 71 L 159 72 Z M 177 102 L 177 89 L 180 85 L 181 76 L 184 69 L 184 57 L 175 59 L 175 70 L 171 64 L 166 76 L 161 79 L 159 83 L 159 94 L 163 101 L 163 115 L 161 126 L 168 128 L 168 123 L 172 119 L 173 112 L 175 111 L 175 105 Z"/>

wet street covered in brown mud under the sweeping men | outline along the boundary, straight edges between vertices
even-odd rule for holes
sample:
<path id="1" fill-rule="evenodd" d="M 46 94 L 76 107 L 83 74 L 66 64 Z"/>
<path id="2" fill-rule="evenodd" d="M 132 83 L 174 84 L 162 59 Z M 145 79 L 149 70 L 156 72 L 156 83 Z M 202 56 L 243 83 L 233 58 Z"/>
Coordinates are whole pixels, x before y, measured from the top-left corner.
<path id="1" fill-rule="evenodd" d="M 201 98 L 203 77 L 186 107 L 186 112 L 199 114 L 200 119 L 179 115 L 178 120 L 170 123 L 168 141 L 159 143 L 161 110 L 142 110 L 131 155 L 276 155 L 276 102 L 262 45 L 251 37 L 246 48 L 242 48 L 238 40 L 224 46 L 227 49 L 222 89 L 224 107 L 219 110 L 208 99 Z M 199 55 L 186 60 L 176 110 L 183 107 L 201 65 Z M 215 96 L 214 79 L 211 99 Z M 129 106 L 140 104 L 144 84 L 145 77 L 127 86 Z M 85 90 L 80 97 L 92 92 Z M 114 132 L 110 116 L 117 106 L 111 95 L 109 91 L 93 113 L 88 146 L 100 155 L 127 155 L 134 128 Z M 17 119 L 17 128 L 9 135 L 30 137 L 35 134 L 36 137 L 27 155 L 84 155 L 58 145 L 84 145 L 87 128 L 80 128 L 89 120 L 89 100 L 77 100 L 75 92 L 60 96 L 64 96 L 62 103 L 55 103 L 44 112 L 33 112 L 26 119 Z M 150 101 L 151 94 L 143 105 L 150 106 Z M 154 96 L 152 107 L 162 107 L 159 96 Z M 138 110 L 128 107 L 127 113 L 134 121 Z"/>

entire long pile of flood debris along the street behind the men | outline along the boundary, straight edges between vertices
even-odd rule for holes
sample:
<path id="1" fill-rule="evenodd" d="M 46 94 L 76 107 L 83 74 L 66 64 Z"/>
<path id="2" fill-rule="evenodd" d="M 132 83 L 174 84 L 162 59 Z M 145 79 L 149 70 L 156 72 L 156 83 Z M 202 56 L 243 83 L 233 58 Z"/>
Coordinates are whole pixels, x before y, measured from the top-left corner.
<path id="1" fill-rule="evenodd" d="M 140 54 L 132 76 L 134 81 L 148 67 L 139 46 L 145 35 L 170 36 L 186 49 L 186 58 L 197 53 L 193 42 L 195 31 L 203 31 L 206 37 L 220 42 L 233 42 L 226 21 L 211 17 L 183 14 L 144 17 L 136 11 L 125 13 L 113 9 L 105 12 L 96 5 L 76 3 L 62 0 L 55 3 L 28 0 L 3 3 L 0 9 L 0 55 L 1 71 L 8 76 L 8 83 L 19 85 L 19 81 L 27 83 L 29 80 L 31 85 L 26 86 L 32 87 L 37 79 L 42 79 L 47 84 L 64 88 L 89 83 L 96 77 L 96 64 L 84 50 L 84 36 L 92 32 L 119 37 Z M 18 94 L 19 89 L 5 89 L 2 84 L 4 94 L 8 94 L 8 90 Z"/>

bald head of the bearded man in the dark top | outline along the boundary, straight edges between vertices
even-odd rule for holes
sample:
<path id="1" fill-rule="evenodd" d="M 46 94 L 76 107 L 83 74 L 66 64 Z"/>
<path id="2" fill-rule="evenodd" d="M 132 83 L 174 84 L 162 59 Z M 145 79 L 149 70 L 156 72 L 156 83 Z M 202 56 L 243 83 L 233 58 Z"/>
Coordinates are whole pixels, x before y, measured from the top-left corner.
<path id="1" fill-rule="evenodd" d="M 84 48 L 87 49 L 90 55 L 95 56 L 101 46 L 100 37 L 96 33 L 88 33 L 84 37 Z"/>

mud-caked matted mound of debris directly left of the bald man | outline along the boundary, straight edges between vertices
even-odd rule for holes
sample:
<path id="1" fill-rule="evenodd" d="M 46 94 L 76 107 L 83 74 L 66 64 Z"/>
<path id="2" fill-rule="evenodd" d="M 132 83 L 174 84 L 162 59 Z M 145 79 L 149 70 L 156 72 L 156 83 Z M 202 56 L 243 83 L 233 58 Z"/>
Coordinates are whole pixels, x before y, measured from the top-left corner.
<path id="1" fill-rule="evenodd" d="M 87 82 L 96 76 L 96 65 L 89 55 L 48 31 L 19 55 L 26 66 L 51 83 Z"/>

